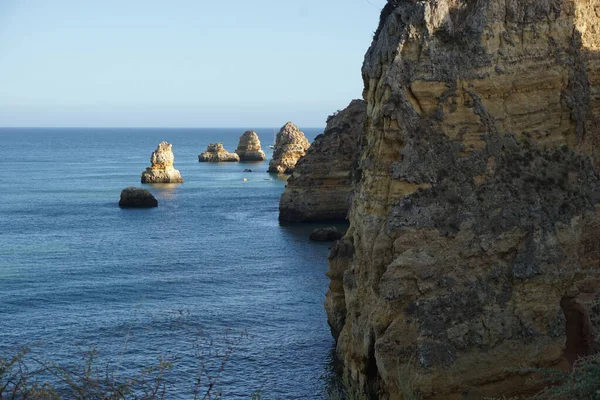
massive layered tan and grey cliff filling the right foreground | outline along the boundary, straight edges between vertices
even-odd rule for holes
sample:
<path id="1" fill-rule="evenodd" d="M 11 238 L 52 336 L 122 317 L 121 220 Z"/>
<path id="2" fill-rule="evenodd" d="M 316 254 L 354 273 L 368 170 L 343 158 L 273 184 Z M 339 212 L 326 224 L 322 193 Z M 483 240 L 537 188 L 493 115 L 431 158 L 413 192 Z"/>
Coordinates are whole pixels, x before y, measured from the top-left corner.
<path id="1" fill-rule="evenodd" d="M 600 322 L 600 0 L 388 2 L 326 308 L 381 399 L 535 390 Z"/>

